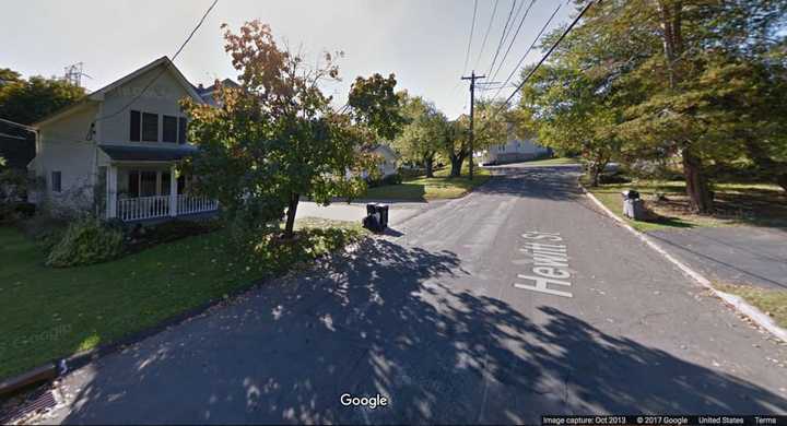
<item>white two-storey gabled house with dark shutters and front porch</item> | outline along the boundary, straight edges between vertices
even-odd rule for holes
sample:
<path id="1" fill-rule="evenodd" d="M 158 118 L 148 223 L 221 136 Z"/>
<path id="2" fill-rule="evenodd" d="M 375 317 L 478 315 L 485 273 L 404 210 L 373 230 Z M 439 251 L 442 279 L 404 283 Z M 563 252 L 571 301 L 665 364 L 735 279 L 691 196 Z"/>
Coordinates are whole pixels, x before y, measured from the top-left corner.
<path id="1" fill-rule="evenodd" d="M 210 94 L 162 57 L 35 123 L 27 168 L 44 185 L 33 201 L 122 221 L 218 210 L 214 200 L 190 196 L 189 179 L 176 171 L 196 152 L 179 100 L 203 103 L 201 95 Z"/>

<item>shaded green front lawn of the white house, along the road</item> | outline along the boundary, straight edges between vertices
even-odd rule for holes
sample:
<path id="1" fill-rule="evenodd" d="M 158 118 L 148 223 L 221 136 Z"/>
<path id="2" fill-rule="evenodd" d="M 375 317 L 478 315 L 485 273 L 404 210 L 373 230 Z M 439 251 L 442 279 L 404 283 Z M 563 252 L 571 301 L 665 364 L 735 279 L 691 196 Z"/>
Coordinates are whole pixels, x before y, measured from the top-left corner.
<path id="1" fill-rule="evenodd" d="M 0 227 L 0 378 L 151 328 L 365 234 L 326 220 L 305 218 L 296 228 L 294 241 L 263 236 L 244 256 L 216 230 L 107 263 L 51 269 L 40 245 Z"/>

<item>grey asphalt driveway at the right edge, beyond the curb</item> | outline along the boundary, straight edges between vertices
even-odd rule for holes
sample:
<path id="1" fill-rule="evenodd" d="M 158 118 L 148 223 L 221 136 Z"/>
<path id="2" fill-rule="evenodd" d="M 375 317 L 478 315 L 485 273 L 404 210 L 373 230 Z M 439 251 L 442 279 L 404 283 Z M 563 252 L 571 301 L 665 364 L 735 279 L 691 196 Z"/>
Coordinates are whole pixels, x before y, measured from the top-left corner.
<path id="1" fill-rule="evenodd" d="M 647 233 L 713 281 L 787 291 L 787 232 L 751 226 Z"/>

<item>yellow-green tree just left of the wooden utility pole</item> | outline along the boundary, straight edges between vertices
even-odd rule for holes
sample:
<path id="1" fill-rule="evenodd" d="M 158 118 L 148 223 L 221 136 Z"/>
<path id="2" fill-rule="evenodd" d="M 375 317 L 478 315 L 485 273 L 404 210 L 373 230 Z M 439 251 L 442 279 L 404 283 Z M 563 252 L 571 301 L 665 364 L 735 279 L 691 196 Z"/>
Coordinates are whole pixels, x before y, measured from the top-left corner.
<path id="1" fill-rule="evenodd" d="M 392 145 L 403 158 L 423 164 L 426 177 L 434 177 L 434 159 L 444 137 L 445 116 L 420 96 L 399 94 L 406 122 Z"/>

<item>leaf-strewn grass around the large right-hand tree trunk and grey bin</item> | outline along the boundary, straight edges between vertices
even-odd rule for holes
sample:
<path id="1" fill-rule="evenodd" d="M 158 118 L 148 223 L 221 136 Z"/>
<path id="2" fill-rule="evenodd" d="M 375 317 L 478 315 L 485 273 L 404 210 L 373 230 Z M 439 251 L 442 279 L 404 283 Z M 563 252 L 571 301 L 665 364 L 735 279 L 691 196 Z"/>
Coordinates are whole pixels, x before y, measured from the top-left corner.
<path id="1" fill-rule="evenodd" d="M 632 184 L 601 185 L 588 188 L 612 212 L 623 217 L 621 191 L 639 191 L 646 205 L 658 220 L 625 221 L 641 232 L 702 226 L 754 225 L 787 227 L 787 194 L 782 188 L 766 184 L 717 184 L 714 186 L 716 212 L 698 215 L 689 211 L 683 181 L 638 180 Z M 662 193 L 666 200 L 656 200 Z"/>

